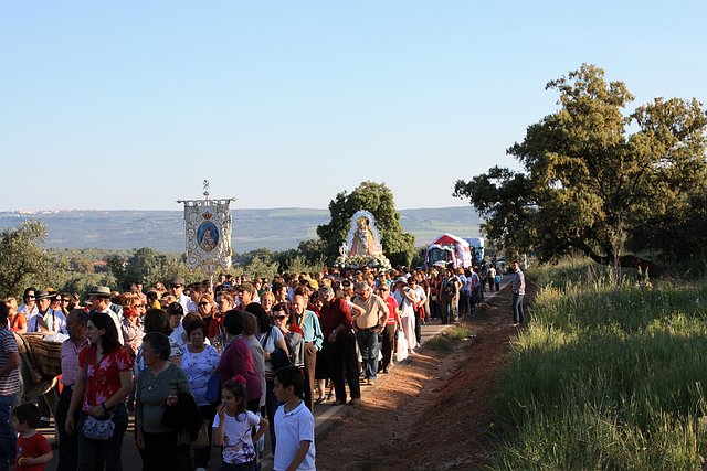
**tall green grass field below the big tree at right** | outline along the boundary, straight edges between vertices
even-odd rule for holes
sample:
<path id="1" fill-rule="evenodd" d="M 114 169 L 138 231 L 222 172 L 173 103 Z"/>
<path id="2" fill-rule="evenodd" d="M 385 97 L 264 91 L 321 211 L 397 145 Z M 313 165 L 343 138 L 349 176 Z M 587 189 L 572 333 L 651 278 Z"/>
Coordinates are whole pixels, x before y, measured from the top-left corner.
<path id="1" fill-rule="evenodd" d="M 707 282 L 652 289 L 568 261 L 540 286 L 495 406 L 493 469 L 693 470 L 707 446 Z"/>

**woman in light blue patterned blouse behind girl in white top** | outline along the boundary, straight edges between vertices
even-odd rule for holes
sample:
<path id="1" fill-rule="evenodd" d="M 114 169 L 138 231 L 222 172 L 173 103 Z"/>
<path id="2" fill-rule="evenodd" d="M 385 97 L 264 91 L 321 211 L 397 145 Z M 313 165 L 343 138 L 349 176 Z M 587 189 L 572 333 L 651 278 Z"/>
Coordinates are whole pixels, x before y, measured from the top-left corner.
<path id="1" fill-rule="evenodd" d="M 201 297 L 200 302 L 204 297 Z M 211 422 L 217 414 L 217 408 L 207 400 L 207 390 L 209 378 L 214 372 L 219 371 L 220 355 L 213 346 L 204 343 L 208 328 L 203 320 L 197 318 L 191 322 L 184 322 L 184 329 L 187 330 L 189 344 L 184 347 L 181 367 L 189 378 L 194 400 L 205 424 L 205 429 L 199 432 L 200 437 L 194 442 L 194 467 L 197 469 L 208 469 L 209 459 L 211 458 Z"/>

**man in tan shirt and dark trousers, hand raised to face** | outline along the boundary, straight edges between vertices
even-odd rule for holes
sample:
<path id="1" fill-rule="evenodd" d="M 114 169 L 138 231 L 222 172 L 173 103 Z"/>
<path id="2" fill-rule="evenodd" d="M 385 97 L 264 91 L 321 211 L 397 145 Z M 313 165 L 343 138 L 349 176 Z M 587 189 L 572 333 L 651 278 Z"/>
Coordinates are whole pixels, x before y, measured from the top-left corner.
<path id="1" fill-rule="evenodd" d="M 363 363 L 363 378 L 367 384 L 373 384 L 378 373 L 378 334 L 383 331 L 388 320 L 388 306 L 378 295 L 373 295 L 368 281 L 357 281 L 354 304 L 363 310 L 354 317 L 356 340 L 361 351 Z"/>

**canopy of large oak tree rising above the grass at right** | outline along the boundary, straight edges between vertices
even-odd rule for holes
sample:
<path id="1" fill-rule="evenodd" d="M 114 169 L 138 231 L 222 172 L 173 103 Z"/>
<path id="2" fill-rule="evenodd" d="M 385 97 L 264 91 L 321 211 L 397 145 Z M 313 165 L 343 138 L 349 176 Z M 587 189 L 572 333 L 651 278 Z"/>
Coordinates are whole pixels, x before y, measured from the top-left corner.
<path id="1" fill-rule="evenodd" d="M 523 171 L 495 167 L 455 183 L 454 195 L 486 220 L 488 238 L 546 260 L 579 249 L 622 266 L 645 261 L 641 251 L 701 250 L 673 235 L 704 226 L 694 212 L 707 189 L 701 104 L 655 98 L 626 114 L 634 99 L 626 86 L 588 64 L 546 89 L 559 93 L 559 110 L 507 150 Z"/>

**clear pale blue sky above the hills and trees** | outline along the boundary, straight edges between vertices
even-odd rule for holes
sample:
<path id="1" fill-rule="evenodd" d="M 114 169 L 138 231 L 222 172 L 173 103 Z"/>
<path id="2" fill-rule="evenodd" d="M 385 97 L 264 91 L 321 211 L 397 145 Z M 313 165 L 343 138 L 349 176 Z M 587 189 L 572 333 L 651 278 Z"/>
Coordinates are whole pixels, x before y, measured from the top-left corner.
<path id="1" fill-rule="evenodd" d="M 582 63 L 707 100 L 704 1 L 0 2 L 0 211 L 468 204 Z"/>

